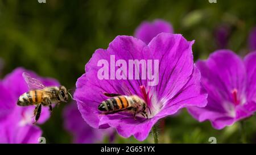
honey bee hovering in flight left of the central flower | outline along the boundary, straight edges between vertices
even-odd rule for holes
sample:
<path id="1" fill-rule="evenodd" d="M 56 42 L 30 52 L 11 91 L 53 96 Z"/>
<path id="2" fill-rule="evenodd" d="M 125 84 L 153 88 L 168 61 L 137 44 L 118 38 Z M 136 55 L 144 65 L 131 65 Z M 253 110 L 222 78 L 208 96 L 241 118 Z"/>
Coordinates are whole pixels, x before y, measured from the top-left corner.
<path id="1" fill-rule="evenodd" d="M 35 123 L 40 118 L 42 105 L 48 106 L 49 111 L 52 112 L 52 104 L 68 102 L 69 93 L 64 86 L 46 87 L 42 82 L 40 82 L 38 79 L 32 78 L 28 73 L 23 73 L 22 76 L 27 82 L 28 88 L 30 90 L 20 95 L 17 104 L 18 106 L 36 106 L 34 110 Z"/>

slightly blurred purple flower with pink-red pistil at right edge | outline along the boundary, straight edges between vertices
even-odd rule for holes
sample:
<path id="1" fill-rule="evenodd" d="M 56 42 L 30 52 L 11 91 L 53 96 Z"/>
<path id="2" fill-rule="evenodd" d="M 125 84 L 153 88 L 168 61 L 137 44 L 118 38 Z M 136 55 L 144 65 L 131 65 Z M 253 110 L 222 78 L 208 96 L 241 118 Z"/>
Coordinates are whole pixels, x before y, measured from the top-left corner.
<path id="1" fill-rule="evenodd" d="M 189 107 L 190 114 L 222 129 L 256 111 L 256 52 L 243 60 L 229 50 L 214 52 L 208 60 L 198 61 L 201 82 L 208 92 L 204 108 Z"/>

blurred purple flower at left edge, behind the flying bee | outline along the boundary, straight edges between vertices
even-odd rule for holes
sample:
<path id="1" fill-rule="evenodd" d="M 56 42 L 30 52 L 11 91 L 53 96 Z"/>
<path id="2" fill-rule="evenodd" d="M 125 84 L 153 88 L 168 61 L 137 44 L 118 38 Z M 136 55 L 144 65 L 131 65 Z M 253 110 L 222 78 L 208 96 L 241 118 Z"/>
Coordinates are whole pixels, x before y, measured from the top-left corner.
<path id="1" fill-rule="evenodd" d="M 28 91 L 27 83 L 22 73 L 30 73 L 39 79 L 45 86 L 59 85 L 57 81 L 50 78 L 41 78 L 35 73 L 17 68 L 0 81 L 0 143 L 38 143 L 42 131 L 33 125 L 34 106 L 19 107 L 16 102 L 20 95 Z M 46 122 L 49 118 L 48 108 L 42 108 L 38 121 L 39 124 Z"/>

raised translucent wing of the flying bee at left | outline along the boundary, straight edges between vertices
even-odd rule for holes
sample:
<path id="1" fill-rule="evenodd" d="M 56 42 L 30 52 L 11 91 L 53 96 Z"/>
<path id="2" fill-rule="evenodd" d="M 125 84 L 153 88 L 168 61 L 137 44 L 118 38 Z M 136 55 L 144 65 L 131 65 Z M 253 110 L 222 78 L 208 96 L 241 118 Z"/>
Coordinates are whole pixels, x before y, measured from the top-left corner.
<path id="1" fill-rule="evenodd" d="M 30 90 L 44 89 L 46 87 L 43 85 L 41 81 L 39 81 L 38 79 L 32 78 L 31 75 L 26 72 L 24 72 L 22 76 L 27 82 L 28 89 Z"/>

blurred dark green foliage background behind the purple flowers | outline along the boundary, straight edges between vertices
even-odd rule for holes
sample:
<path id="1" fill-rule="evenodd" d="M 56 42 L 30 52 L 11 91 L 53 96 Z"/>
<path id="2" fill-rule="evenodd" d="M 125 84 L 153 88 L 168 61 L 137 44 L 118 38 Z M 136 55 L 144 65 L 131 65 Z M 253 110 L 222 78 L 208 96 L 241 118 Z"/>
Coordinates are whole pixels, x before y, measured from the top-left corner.
<path id="1" fill-rule="evenodd" d="M 246 1 L 208 0 L 150 1 L 0 1 L 0 57 L 5 61 L 2 77 L 18 66 L 34 70 L 40 76 L 53 77 L 68 88 L 75 87 L 84 66 L 98 48 L 107 48 L 117 35 L 133 35 L 143 20 L 161 18 L 174 26 L 193 45 L 195 60 L 207 58 L 218 49 L 214 32 L 229 28 L 228 44 L 245 55 L 247 37 L 256 26 L 256 3 Z M 63 128 L 62 110 L 55 108 L 47 123 L 41 125 L 47 143 L 71 143 L 71 134 Z M 245 120 L 249 143 L 256 142 L 256 117 Z M 160 125 L 162 126 L 162 125 Z M 167 118 L 160 129 L 160 143 L 240 143 L 240 124 L 221 131 L 209 122 L 198 123 L 187 111 Z M 107 141 L 106 141 L 107 142 Z M 133 137 L 117 136 L 114 143 L 152 143 L 149 136 L 139 142 Z"/>

